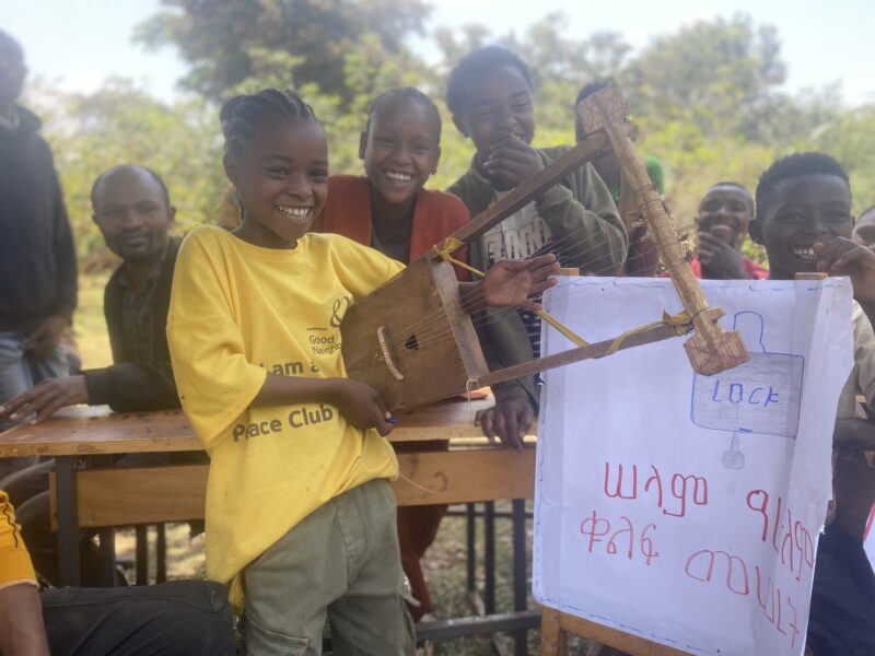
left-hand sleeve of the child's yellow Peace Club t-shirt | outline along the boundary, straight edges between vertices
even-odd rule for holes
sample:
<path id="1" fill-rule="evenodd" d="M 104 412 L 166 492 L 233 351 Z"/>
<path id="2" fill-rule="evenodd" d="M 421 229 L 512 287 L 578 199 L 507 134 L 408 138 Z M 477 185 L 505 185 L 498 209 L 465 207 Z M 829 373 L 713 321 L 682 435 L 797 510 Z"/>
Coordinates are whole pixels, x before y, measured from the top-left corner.
<path id="1" fill-rule="evenodd" d="M 228 434 L 265 384 L 248 362 L 230 302 L 229 272 L 208 232 L 179 248 L 167 315 L 167 342 L 179 400 L 207 448 Z"/>

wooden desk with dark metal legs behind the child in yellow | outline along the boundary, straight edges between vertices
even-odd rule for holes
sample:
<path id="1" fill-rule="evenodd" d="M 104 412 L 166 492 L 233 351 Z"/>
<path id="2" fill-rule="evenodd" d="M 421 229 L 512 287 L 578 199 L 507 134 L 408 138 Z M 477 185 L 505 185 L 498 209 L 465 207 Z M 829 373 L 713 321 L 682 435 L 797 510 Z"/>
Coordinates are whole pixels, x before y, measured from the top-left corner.
<path id="1" fill-rule="evenodd" d="M 472 425 L 475 412 L 489 405 L 491 400 L 450 401 L 398 415 L 398 424 L 389 435 L 393 443 L 451 440 L 450 450 L 398 455 L 401 475 L 393 488 L 399 505 L 533 496 L 535 437 L 527 437 L 520 452 L 490 444 Z M 43 424 L 19 425 L 0 433 L 0 458 L 37 455 L 56 459 L 52 513 L 57 518 L 60 574 L 68 585 L 79 582 L 81 528 L 112 530 L 108 527 L 203 517 L 207 465 L 95 467 L 93 456 L 201 449 L 179 410 L 114 413 L 106 407 L 71 408 Z M 514 528 L 514 597 L 515 608 L 524 610 L 527 586 L 523 502 L 516 502 L 514 509 L 514 517 L 518 514 L 523 518 L 521 526 Z M 515 619 L 502 616 L 495 621 L 513 628 Z M 532 619 L 526 618 L 525 628 L 537 625 Z M 457 621 L 448 622 L 453 625 L 438 632 L 438 636 L 450 636 L 458 629 Z M 490 626 L 481 621 L 478 630 L 488 633 L 493 630 Z"/>

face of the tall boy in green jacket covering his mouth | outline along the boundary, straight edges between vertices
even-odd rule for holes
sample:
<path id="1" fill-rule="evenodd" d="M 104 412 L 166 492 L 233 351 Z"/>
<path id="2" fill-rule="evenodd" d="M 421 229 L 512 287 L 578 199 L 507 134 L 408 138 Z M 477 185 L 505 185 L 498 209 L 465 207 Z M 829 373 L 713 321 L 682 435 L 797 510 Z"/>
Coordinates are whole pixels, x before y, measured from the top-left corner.
<path id="1" fill-rule="evenodd" d="M 535 110 L 532 89 L 523 74 L 512 66 L 489 71 L 467 90 L 464 109 L 453 121 L 470 137 L 482 160 L 492 145 L 508 138 L 532 143 L 535 136 Z"/>

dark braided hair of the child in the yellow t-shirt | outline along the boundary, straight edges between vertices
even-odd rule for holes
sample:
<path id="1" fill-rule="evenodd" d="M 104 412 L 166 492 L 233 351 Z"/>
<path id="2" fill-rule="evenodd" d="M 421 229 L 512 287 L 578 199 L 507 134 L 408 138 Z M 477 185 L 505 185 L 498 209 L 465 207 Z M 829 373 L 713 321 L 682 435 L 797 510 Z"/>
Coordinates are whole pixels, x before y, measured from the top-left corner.
<path id="1" fill-rule="evenodd" d="M 240 156 L 258 126 L 277 117 L 319 122 L 313 107 L 292 91 L 265 89 L 258 93 L 234 96 L 219 112 L 225 137 L 225 154 Z"/>

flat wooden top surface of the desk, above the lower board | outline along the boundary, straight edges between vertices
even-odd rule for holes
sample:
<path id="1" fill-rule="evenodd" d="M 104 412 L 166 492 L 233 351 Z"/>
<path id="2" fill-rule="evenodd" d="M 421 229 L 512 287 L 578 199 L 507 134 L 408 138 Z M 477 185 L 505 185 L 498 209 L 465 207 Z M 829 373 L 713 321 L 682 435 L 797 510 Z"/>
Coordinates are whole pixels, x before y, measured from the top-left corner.
<path id="1" fill-rule="evenodd" d="M 389 441 L 476 438 L 481 433 L 472 425 L 474 417 L 491 406 L 492 399 L 452 399 L 398 413 Z M 68 408 L 42 424 L 21 424 L 0 433 L 0 458 L 201 449 L 182 410 L 124 413 L 106 406 Z"/>

